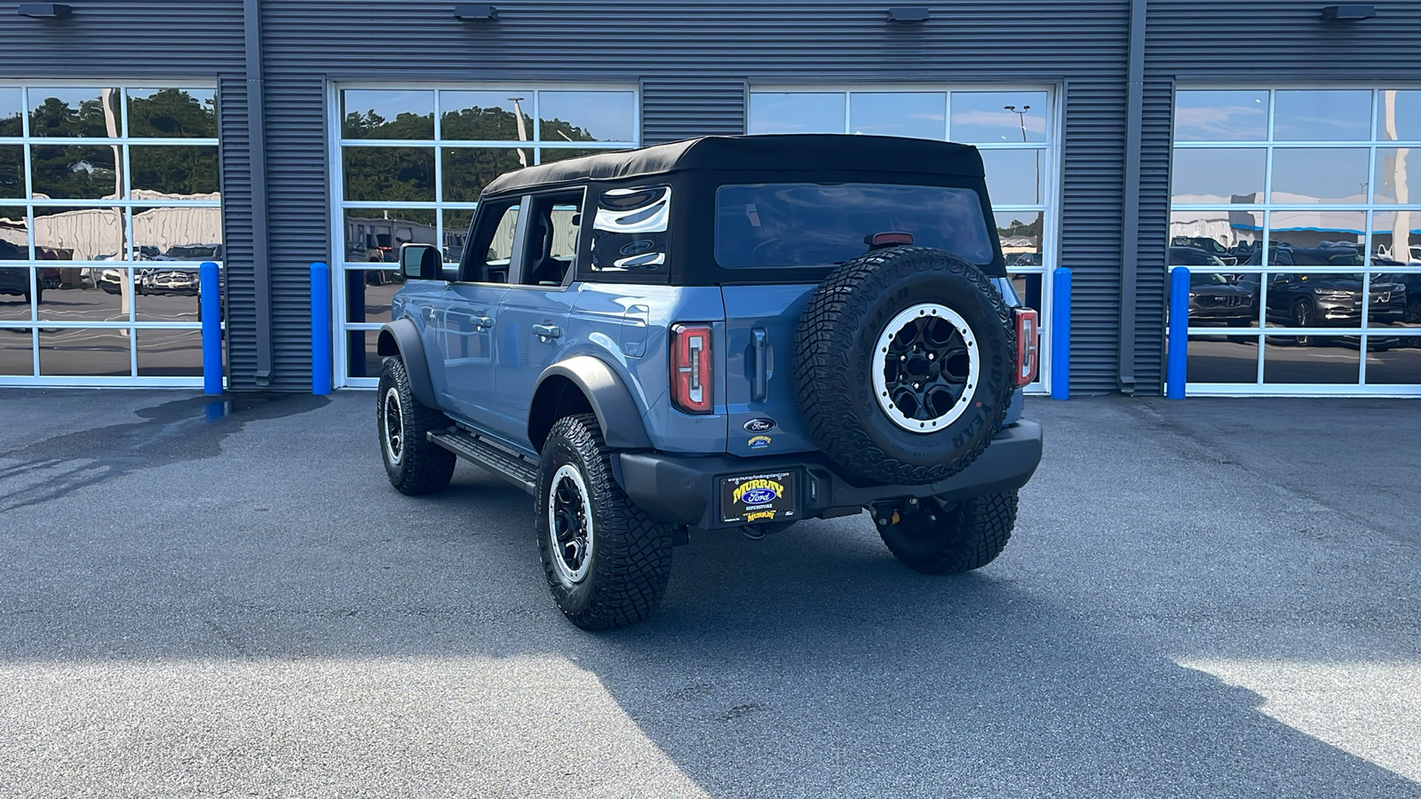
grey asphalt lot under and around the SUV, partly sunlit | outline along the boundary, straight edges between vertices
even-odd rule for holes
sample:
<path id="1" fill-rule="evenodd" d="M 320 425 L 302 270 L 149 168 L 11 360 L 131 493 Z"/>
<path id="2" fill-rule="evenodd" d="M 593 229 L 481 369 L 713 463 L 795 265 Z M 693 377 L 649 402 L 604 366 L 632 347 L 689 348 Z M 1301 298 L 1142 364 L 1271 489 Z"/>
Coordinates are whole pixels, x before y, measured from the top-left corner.
<path id="1" fill-rule="evenodd" d="M 0 395 L 4 796 L 1421 796 L 1421 405 L 1032 400 L 989 567 L 865 516 L 587 634 L 374 398 Z"/>

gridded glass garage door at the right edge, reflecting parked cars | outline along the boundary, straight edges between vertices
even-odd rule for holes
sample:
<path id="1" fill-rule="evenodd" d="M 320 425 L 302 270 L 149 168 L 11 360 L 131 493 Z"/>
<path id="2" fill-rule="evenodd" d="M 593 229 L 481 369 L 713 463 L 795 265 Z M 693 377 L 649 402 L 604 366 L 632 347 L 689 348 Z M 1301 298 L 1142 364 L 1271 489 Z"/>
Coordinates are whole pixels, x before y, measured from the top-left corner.
<path id="1" fill-rule="evenodd" d="M 1417 146 L 1418 90 L 1177 92 L 1191 394 L 1421 395 Z"/>

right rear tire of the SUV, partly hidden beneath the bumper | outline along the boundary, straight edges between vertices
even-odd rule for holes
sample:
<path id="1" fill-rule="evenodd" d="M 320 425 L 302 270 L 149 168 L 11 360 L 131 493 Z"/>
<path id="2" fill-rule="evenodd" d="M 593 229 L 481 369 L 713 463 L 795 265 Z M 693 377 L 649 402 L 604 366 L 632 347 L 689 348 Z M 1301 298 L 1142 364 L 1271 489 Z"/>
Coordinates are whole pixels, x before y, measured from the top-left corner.
<path id="1" fill-rule="evenodd" d="M 898 523 L 878 525 L 878 535 L 888 552 L 909 569 L 959 574 L 996 560 L 1015 526 L 1016 489 L 1012 489 L 961 502 L 919 500 L 918 510 Z"/>

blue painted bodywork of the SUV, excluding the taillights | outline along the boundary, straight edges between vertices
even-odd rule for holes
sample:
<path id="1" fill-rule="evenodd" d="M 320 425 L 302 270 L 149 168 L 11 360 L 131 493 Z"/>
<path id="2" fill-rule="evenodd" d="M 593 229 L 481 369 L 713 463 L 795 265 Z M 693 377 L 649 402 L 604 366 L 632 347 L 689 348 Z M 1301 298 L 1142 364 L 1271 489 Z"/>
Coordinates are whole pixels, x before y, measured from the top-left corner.
<path id="1" fill-rule="evenodd" d="M 1010 281 L 993 284 L 1007 304 L 1020 304 Z M 627 385 L 655 449 L 752 458 L 817 449 L 791 374 L 794 330 L 814 289 L 412 280 L 395 296 L 392 314 L 421 330 L 441 409 L 514 449 L 533 452 L 529 408 L 543 371 L 593 355 Z M 712 324 L 712 414 L 685 414 L 671 402 L 669 330 L 676 323 Z M 539 336 L 534 326 L 556 327 L 558 336 Z M 1007 424 L 1020 417 L 1017 391 Z"/>

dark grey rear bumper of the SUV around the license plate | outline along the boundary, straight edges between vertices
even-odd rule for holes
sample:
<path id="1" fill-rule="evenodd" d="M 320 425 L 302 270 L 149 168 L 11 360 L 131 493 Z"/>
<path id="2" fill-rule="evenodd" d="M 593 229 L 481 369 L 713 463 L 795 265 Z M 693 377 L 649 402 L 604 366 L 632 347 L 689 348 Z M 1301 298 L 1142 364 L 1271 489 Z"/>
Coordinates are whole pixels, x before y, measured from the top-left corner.
<path id="1" fill-rule="evenodd" d="M 962 472 L 918 486 L 854 479 L 827 459 L 806 452 L 763 458 L 621 452 L 614 458 L 614 472 L 627 496 L 654 519 L 715 529 L 737 526 L 720 520 L 719 479 L 753 472 L 800 473 L 799 519 L 837 516 L 888 499 L 965 499 L 1022 488 L 1042 461 L 1042 425 L 1016 422 L 996 434 L 992 445 Z"/>

